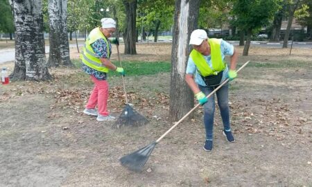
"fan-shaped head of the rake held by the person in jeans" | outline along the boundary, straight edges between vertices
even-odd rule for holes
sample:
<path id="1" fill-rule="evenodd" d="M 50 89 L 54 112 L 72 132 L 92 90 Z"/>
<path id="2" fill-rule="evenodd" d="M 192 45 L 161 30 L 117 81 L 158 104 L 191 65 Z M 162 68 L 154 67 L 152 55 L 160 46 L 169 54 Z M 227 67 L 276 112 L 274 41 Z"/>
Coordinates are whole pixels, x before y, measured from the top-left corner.
<path id="1" fill-rule="evenodd" d="M 129 170 L 140 172 L 146 161 L 148 161 L 148 158 L 153 152 L 156 144 L 156 142 L 150 143 L 150 145 L 147 145 L 144 148 L 121 157 L 121 159 L 119 159 L 121 165 L 125 166 Z"/>

